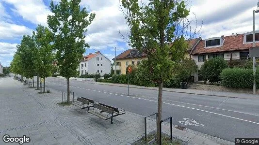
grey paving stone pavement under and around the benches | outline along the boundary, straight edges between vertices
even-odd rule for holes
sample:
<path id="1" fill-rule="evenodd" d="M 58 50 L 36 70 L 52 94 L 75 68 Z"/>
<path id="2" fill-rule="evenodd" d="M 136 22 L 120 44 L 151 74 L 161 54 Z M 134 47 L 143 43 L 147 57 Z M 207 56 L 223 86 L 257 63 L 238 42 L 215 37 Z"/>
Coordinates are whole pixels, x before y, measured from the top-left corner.
<path id="1" fill-rule="evenodd" d="M 61 92 L 38 94 L 11 77 L 0 79 L 0 145 L 2 136 L 29 136 L 24 145 L 126 145 L 144 136 L 144 116 L 126 111 L 122 116 L 102 120 L 74 105 L 60 106 Z M 155 130 L 155 120 L 147 119 L 147 132 Z M 169 134 L 169 123 L 162 131 Z M 234 145 L 210 135 L 173 127 L 173 136 L 188 145 Z M 16 143 L 17 145 L 18 143 Z"/>

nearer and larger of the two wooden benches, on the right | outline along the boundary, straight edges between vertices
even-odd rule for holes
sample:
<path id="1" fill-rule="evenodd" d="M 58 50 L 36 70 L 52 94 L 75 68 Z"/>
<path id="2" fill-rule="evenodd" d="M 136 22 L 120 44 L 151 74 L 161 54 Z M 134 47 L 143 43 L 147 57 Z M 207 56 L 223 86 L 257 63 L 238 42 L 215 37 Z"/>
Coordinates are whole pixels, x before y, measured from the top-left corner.
<path id="1" fill-rule="evenodd" d="M 98 110 L 97 110 L 98 109 Z M 113 117 L 123 115 L 125 114 L 124 110 L 119 110 L 118 108 L 103 104 L 103 103 L 94 103 L 94 109 L 93 110 L 88 110 L 88 113 L 91 113 L 103 120 L 108 120 L 111 119 L 111 124 L 113 124 Z M 103 113 L 107 113 L 103 114 Z"/>

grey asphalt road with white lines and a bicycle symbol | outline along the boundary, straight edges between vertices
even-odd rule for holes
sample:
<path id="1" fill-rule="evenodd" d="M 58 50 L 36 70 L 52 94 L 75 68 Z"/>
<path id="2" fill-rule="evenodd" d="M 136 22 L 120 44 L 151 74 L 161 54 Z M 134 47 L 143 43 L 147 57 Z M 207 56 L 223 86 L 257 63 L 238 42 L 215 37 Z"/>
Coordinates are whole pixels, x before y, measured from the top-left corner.
<path id="1" fill-rule="evenodd" d="M 66 91 L 65 79 L 47 78 L 51 89 Z M 148 116 L 157 112 L 157 90 L 98 85 L 70 80 L 76 96 L 104 102 Z M 173 124 L 234 142 L 235 137 L 259 137 L 259 100 L 194 95 L 163 91 L 162 118 L 173 117 Z M 184 125 L 183 118 L 197 123 Z"/>

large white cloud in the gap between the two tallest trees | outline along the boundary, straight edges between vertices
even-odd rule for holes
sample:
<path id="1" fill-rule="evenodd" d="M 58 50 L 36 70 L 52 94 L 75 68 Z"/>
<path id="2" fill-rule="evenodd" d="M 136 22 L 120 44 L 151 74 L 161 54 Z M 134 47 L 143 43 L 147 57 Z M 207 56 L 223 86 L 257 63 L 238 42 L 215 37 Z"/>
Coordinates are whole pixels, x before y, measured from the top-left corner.
<path id="1" fill-rule="evenodd" d="M 85 38 L 91 48 L 105 50 L 109 47 L 118 47 L 118 42 L 125 42 L 119 32 L 125 34 L 128 27 L 120 11 L 119 0 L 87 0 L 82 4 L 88 4 L 91 13 L 96 14 Z"/>

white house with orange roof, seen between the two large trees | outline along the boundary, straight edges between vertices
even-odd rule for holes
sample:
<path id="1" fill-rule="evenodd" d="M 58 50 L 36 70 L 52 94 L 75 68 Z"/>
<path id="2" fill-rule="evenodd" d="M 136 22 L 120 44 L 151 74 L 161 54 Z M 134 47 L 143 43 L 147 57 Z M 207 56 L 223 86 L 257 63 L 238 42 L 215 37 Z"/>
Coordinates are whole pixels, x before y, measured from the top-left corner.
<path id="1" fill-rule="evenodd" d="M 104 74 L 111 73 L 111 60 L 101 54 L 99 51 L 84 56 L 79 66 L 80 75 L 82 74 L 95 74 L 100 73 L 101 76 Z"/>

